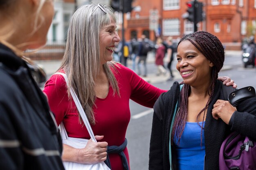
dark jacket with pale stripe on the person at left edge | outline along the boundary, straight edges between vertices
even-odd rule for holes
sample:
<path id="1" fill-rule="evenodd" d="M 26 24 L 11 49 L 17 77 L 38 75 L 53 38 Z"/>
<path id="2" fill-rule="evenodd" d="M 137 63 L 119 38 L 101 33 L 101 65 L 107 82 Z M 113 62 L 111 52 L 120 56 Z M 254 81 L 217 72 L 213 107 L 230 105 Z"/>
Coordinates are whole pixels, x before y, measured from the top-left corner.
<path id="1" fill-rule="evenodd" d="M 27 64 L 0 44 L 1 170 L 64 170 L 62 143 Z"/>

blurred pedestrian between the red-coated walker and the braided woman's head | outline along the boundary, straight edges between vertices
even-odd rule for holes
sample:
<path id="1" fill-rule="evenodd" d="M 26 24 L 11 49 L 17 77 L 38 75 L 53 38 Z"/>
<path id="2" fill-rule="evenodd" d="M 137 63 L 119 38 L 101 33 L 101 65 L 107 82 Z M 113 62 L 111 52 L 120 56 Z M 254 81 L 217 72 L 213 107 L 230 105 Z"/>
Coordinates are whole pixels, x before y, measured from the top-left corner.
<path id="1" fill-rule="evenodd" d="M 168 79 L 168 81 L 173 80 L 173 72 L 172 72 L 172 68 L 171 68 L 171 64 L 173 62 L 173 53 L 174 53 L 174 46 L 173 46 L 173 38 L 170 36 L 167 38 L 166 40 L 166 44 L 167 44 L 167 68 L 170 71 L 170 78 Z"/>

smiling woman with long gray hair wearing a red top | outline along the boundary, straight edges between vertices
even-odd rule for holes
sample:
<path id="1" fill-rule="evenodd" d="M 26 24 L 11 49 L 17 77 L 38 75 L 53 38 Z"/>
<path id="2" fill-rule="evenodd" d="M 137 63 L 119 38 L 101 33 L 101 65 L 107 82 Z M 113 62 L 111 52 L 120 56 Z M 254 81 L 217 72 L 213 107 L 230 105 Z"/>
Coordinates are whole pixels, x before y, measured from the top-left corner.
<path id="1" fill-rule="evenodd" d="M 67 135 L 90 139 L 69 94 L 72 87 L 98 142 L 89 140 L 82 149 L 64 144 L 63 161 L 101 162 L 106 160 L 107 146 L 122 146 L 124 149 L 109 154 L 109 160 L 112 170 L 127 169 L 129 155 L 123 145 L 130 121 L 129 100 L 152 108 L 165 91 L 150 85 L 131 69 L 112 62 L 115 43 L 120 41 L 116 28 L 115 15 L 107 5 L 82 6 L 70 20 L 66 50 L 58 70 L 67 74 L 69 86 L 61 75 L 52 75 L 44 92 L 57 124 L 63 122 Z M 120 156 L 121 152 L 124 156 Z"/>

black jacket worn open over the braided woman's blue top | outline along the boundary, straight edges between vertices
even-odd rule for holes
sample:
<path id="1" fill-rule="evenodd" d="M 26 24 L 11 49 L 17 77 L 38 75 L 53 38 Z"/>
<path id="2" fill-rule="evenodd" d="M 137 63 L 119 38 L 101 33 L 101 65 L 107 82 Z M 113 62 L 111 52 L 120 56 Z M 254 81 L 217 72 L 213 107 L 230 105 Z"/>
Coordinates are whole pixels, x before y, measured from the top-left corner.
<path id="1" fill-rule="evenodd" d="M 243 135 L 256 139 L 256 98 L 247 99 L 237 106 L 240 112 L 236 111 L 234 113 L 234 121 L 231 127 L 225 124 L 221 119 L 216 120 L 212 117 L 211 110 L 217 99 L 227 100 L 227 93 L 223 92 L 225 90 L 226 87 L 224 87 L 222 82 L 217 80 L 213 99 L 209 104 L 204 125 L 205 170 L 219 169 L 220 146 L 231 130 L 236 130 Z M 174 82 L 171 89 L 166 93 L 162 93 L 154 105 L 150 139 L 149 170 L 170 170 L 170 126 L 179 94 L 180 86 L 178 82 Z M 173 170 L 176 170 L 177 160 L 173 152 L 174 149 L 175 148 L 172 147 L 172 166 Z"/>

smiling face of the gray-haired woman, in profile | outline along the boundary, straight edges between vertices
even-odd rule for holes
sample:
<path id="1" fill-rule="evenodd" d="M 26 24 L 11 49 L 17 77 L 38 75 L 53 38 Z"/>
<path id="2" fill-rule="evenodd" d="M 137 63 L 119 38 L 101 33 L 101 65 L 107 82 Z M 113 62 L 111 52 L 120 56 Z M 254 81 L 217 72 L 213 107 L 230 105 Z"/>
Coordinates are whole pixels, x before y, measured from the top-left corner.
<path id="1" fill-rule="evenodd" d="M 104 26 L 100 31 L 100 61 L 101 64 L 113 59 L 112 53 L 115 49 L 115 43 L 120 41 L 116 31 L 117 25 L 111 20 L 110 24 Z"/>

